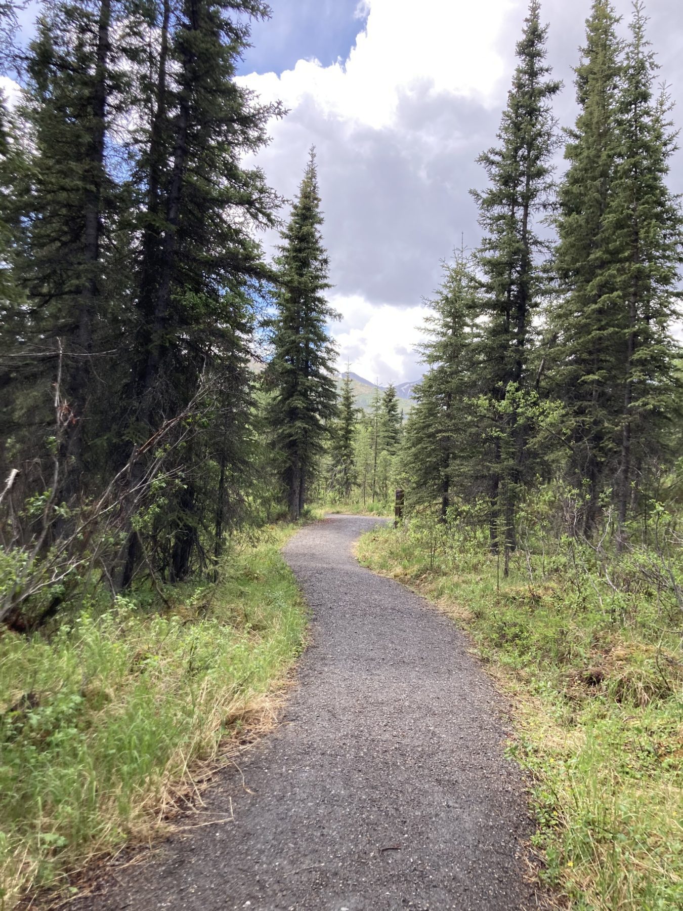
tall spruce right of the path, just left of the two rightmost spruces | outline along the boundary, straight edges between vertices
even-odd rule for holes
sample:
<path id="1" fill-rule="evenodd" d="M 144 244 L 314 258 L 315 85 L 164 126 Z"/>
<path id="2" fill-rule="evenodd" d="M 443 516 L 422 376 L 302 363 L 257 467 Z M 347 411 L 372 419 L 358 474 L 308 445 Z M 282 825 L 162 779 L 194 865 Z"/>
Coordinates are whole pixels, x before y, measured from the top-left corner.
<path id="1" fill-rule="evenodd" d="M 477 253 L 483 276 L 485 331 L 480 363 L 485 392 L 497 402 L 513 395 L 509 409 L 499 410 L 491 435 L 488 495 L 492 545 L 498 540 L 498 504 L 504 503 L 506 547 L 515 547 L 515 498 L 525 476 L 525 425 L 517 420 L 515 392 L 528 383 L 527 366 L 532 320 L 544 292 L 543 258 L 547 244 L 536 232 L 553 189 L 552 156 L 556 148 L 552 98 L 560 83 L 549 78 L 545 64 L 547 26 L 540 22 L 540 3 L 531 0 L 518 64 L 498 133 L 500 146 L 480 156 L 489 178 L 484 192 L 474 192 L 484 239 Z M 512 441 L 502 446 L 501 440 Z M 503 453 L 506 449 L 509 455 Z M 503 485 L 501 488 L 501 481 Z"/>

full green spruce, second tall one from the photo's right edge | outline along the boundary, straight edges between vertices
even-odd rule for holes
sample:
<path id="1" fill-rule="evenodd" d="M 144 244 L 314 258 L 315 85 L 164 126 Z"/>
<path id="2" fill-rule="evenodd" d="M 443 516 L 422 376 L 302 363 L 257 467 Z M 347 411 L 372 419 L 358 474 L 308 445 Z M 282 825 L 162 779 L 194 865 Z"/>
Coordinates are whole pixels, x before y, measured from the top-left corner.
<path id="1" fill-rule="evenodd" d="M 555 344 L 546 354 L 548 391 L 565 403 L 569 419 L 569 479 L 588 488 L 586 530 L 595 523 L 600 491 L 615 461 L 616 381 L 624 356 L 624 314 L 616 297 L 615 251 L 607 224 L 619 155 L 617 23 L 609 0 L 594 0 L 575 70 L 579 114 L 575 128 L 567 131 L 569 167 L 558 194 L 559 287 L 550 311 Z"/>

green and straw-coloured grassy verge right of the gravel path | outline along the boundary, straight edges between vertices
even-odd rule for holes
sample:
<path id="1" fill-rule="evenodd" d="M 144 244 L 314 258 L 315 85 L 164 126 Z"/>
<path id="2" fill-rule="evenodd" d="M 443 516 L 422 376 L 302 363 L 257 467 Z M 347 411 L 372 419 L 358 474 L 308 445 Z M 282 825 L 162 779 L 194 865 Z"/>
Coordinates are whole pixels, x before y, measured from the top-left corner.
<path id="1" fill-rule="evenodd" d="M 572 909 L 683 907 L 680 619 L 635 572 L 617 597 L 589 568 L 519 554 L 505 579 L 483 542 L 422 537 L 377 528 L 358 556 L 468 630 L 512 696 L 545 881 Z"/>

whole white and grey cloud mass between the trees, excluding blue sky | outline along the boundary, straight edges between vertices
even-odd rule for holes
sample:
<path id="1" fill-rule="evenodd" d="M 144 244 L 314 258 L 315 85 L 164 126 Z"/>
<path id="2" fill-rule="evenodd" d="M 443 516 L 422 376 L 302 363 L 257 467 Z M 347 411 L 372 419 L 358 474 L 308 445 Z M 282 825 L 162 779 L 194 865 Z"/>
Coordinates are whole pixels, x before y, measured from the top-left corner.
<path id="1" fill-rule="evenodd" d="M 413 351 L 420 301 L 464 227 L 448 223 L 460 216 L 443 175 L 458 152 L 469 159 L 461 179 L 472 171 L 473 138 L 480 141 L 474 123 L 505 97 L 511 48 L 503 32 L 519 8 L 520 0 L 363 0 L 356 15 L 364 26 L 359 21 L 347 60 L 329 67 L 299 60 L 280 74 L 240 78 L 263 101 L 280 99 L 291 110 L 273 124 L 273 142 L 259 156 L 276 189 L 293 196 L 306 148 L 319 148 L 338 288 L 332 303 L 344 316 L 333 331 L 342 367 L 348 358 L 368 379 L 403 382 L 421 373 Z M 454 117 L 458 105 L 462 116 Z M 464 195 L 461 209 L 472 223 Z"/>

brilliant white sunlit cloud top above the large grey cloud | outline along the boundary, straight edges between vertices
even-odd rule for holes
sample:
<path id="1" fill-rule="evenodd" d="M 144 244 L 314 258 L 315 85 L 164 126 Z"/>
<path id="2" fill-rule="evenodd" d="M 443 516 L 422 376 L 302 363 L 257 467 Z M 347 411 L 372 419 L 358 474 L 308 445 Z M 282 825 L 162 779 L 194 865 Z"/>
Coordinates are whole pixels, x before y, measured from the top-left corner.
<path id="1" fill-rule="evenodd" d="M 505 75 L 497 43 L 516 0 L 365 0 L 365 28 L 346 61 L 330 67 L 299 60 L 291 70 L 251 74 L 243 81 L 267 100 L 287 107 L 314 99 L 325 117 L 373 128 L 392 124 L 401 96 L 429 81 L 490 104 Z"/>

